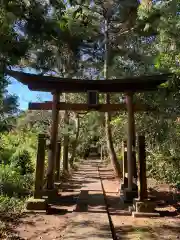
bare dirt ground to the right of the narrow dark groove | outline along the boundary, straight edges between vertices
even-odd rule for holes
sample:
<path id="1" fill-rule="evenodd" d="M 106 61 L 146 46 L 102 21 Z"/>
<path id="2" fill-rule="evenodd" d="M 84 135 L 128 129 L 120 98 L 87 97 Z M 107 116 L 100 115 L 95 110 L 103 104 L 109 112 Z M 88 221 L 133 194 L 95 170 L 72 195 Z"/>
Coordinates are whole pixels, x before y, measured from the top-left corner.
<path id="1" fill-rule="evenodd" d="M 119 182 L 114 178 L 111 167 L 101 167 L 100 175 L 103 181 L 104 189 L 107 196 L 110 216 L 115 228 L 117 239 L 132 240 L 163 240 L 163 239 L 180 239 L 180 215 L 178 214 L 173 203 L 172 194 L 168 194 L 167 184 L 157 185 L 155 181 L 149 181 L 149 185 L 157 194 L 158 200 L 163 200 L 164 204 L 157 210 L 161 211 L 159 218 L 133 218 L 128 216 L 128 207 L 120 203 L 120 194 L 117 193 Z M 160 199 L 158 199 L 160 198 Z"/>

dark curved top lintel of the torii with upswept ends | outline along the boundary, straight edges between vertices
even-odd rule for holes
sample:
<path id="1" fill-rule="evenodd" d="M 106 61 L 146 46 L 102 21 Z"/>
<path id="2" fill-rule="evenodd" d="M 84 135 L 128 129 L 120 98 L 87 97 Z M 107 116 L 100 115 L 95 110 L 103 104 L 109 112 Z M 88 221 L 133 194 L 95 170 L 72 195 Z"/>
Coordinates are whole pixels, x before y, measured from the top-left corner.
<path id="1" fill-rule="evenodd" d="M 91 90 L 102 93 L 152 91 L 156 90 L 158 85 L 166 82 L 170 76 L 170 74 L 144 75 L 104 81 L 41 76 L 11 70 L 7 70 L 6 74 L 16 78 L 33 91 L 71 93 L 87 92 Z"/>

